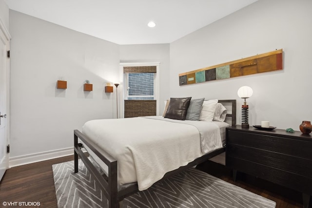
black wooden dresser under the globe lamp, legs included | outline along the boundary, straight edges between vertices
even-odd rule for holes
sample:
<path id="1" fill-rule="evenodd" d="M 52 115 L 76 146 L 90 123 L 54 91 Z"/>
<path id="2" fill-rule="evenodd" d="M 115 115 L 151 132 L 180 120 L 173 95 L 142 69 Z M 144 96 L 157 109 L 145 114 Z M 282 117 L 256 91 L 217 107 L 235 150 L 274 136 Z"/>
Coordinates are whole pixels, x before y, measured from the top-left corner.
<path id="1" fill-rule="evenodd" d="M 309 207 L 312 195 L 312 136 L 301 132 L 243 129 L 226 130 L 226 166 L 302 192 Z"/>

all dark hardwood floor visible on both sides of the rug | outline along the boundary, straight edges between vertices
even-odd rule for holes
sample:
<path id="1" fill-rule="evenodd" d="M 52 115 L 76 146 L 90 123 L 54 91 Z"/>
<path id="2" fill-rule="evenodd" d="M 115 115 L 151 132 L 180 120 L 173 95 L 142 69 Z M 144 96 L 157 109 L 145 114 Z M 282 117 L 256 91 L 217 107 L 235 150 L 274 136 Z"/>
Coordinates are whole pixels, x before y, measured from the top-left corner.
<path id="1" fill-rule="evenodd" d="M 40 202 L 41 208 L 57 208 L 52 164 L 70 160 L 73 160 L 73 156 L 61 157 L 7 170 L 0 182 L 0 207 L 2 206 L 2 202 Z M 269 198 L 276 202 L 276 208 L 303 207 L 301 194 L 297 191 L 286 189 L 244 174 L 238 175 L 236 182 L 234 182 L 231 177 L 231 170 L 210 161 L 198 166 L 198 169 Z"/>

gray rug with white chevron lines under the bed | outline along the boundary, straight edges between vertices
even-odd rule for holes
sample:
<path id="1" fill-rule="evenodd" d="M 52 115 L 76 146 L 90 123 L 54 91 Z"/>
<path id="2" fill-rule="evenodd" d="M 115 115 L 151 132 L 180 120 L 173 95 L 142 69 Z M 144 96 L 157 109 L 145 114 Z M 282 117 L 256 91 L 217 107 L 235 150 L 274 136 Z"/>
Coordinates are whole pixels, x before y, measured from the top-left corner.
<path id="1" fill-rule="evenodd" d="M 79 160 L 52 166 L 59 208 L 107 208 L 93 176 Z M 275 208 L 272 200 L 197 169 L 178 173 L 123 200 L 123 208 Z"/>

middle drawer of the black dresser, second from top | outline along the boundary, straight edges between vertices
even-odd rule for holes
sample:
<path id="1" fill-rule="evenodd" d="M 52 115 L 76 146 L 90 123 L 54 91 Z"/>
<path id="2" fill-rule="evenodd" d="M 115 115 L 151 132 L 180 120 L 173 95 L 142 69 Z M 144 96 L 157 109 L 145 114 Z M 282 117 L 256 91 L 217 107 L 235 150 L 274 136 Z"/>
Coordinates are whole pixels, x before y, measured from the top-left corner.
<path id="1" fill-rule="evenodd" d="M 273 151 L 228 144 L 227 154 L 233 158 L 262 164 L 312 178 L 312 160 Z M 226 161 L 227 165 L 229 161 Z"/>

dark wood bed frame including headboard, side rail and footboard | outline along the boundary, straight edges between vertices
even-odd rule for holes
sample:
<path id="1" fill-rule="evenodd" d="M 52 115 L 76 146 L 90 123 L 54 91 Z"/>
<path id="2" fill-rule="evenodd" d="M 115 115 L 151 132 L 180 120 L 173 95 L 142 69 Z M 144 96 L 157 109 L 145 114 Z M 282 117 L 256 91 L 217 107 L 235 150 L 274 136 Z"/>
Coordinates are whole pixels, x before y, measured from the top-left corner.
<path id="1" fill-rule="evenodd" d="M 231 103 L 232 114 L 227 114 L 227 117 L 231 117 L 231 125 L 236 125 L 236 100 L 219 100 L 219 103 Z M 78 138 L 84 143 L 78 143 Z M 93 151 L 108 167 L 108 176 L 102 175 L 97 168 L 92 164 L 89 158 L 86 156 L 86 152 L 83 152 L 81 148 L 86 145 L 91 151 Z M 164 180 L 172 175 L 177 174 L 183 170 L 191 168 L 197 164 L 200 164 L 208 159 L 225 151 L 225 147 L 207 153 L 194 161 L 190 162 L 186 166 L 182 166 L 176 170 L 167 172 L 161 180 Z M 84 165 L 89 172 L 95 177 L 95 180 L 99 184 L 103 193 L 108 199 L 109 208 L 118 208 L 121 205 L 122 200 L 127 196 L 136 193 L 138 191 L 137 183 L 130 183 L 121 186 L 118 189 L 117 185 L 117 160 L 108 154 L 107 152 L 98 148 L 90 139 L 78 130 L 74 130 L 74 161 L 75 161 L 75 173 L 78 172 L 78 157 L 81 158 Z"/>

